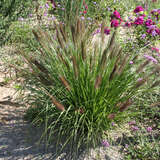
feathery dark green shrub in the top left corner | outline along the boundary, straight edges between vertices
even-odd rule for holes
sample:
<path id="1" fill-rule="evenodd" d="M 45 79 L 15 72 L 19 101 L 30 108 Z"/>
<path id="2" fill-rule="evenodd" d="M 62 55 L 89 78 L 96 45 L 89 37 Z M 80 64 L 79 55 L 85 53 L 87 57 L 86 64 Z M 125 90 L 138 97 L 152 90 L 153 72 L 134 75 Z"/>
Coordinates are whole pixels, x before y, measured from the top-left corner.
<path id="1" fill-rule="evenodd" d="M 0 45 L 3 45 L 10 38 L 8 29 L 12 22 L 19 17 L 26 18 L 28 13 L 32 10 L 31 0 L 17 1 L 17 0 L 1 0 L 0 2 Z"/>

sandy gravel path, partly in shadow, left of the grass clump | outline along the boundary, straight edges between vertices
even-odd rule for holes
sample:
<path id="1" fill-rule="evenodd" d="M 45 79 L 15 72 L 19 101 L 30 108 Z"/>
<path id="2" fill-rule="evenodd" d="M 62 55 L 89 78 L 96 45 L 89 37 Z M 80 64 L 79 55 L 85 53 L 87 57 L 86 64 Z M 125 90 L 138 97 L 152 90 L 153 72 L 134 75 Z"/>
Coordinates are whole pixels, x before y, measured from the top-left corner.
<path id="1" fill-rule="evenodd" d="M 14 93 L 0 86 L 0 160 L 48 160 L 51 150 L 37 144 L 41 130 L 23 120 L 26 109 L 15 102 Z"/>

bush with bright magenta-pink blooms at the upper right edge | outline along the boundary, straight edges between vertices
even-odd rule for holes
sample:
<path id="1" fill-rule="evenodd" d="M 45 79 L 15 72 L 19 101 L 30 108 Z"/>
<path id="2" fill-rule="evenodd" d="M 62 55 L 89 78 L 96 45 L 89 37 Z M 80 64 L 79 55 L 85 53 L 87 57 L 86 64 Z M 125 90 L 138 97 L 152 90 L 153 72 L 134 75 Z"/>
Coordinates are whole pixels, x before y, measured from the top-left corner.
<path id="1" fill-rule="evenodd" d="M 151 11 L 137 6 L 130 17 L 121 25 L 132 33 L 134 46 L 151 47 L 160 39 L 160 9 Z M 129 42 L 128 42 L 129 43 Z M 132 43 L 132 45 L 133 45 Z M 128 44 L 127 44 L 128 45 Z"/>

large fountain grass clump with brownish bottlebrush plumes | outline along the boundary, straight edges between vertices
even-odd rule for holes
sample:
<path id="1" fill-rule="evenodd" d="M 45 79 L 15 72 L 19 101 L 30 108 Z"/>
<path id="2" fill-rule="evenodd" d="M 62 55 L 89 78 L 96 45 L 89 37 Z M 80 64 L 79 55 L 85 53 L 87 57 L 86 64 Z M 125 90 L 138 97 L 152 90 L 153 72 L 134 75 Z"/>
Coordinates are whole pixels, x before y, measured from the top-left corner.
<path id="1" fill-rule="evenodd" d="M 21 75 L 32 107 L 26 117 L 46 124 L 43 136 L 56 141 L 57 153 L 70 144 L 70 153 L 77 155 L 82 146 L 100 144 L 103 132 L 128 116 L 133 99 L 151 87 L 148 81 L 159 69 L 149 60 L 134 65 L 137 57 L 123 52 L 116 30 L 107 43 L 101 32 L 104 50 L 91 47 L 95 28 L 79 17 L 70 25 L 55 24 L 55 30 L 53 38 L 52 31 L 34 29 L 36 48 L 32 43 L 32 54 L 20 51 L 28 64 Z M 155 66 L 149 74 L 144 73 L 147 65 Z"/>

